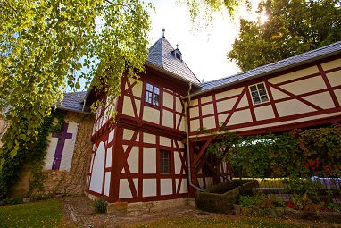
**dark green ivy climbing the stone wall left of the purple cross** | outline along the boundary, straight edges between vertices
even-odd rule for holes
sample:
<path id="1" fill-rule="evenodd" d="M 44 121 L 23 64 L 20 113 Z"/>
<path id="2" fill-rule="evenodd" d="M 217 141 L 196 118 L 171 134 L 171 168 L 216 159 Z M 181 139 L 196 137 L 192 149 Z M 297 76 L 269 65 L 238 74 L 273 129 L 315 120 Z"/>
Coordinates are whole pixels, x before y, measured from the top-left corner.
<path id="1" fill-rule="evenodd" d="M 21 119 L 26 124 L 24 118 Z M 0 199 L 8 198 L 13 186 L 21 177 L 25 165 L 28 165 L 29 171 L 32 173 L 32 180 L 29 182 L 29 190 L 42 187 L 44 175 L 42 173 L 44 166 L 44 158 L 46 156 L 49 141 L 47 135 L 51 132 L 61 131 L 64 122 L 64 113 L 61 111 L 54 112 L 46 116 L 42 126 L 38 130 L 38 140 L 36 143 L 27 146 L 24 140 L 19 141 L 18 152 L 15 156 L 11 156 L 4 145 L 3 154 L 4 164 L 0 170 Z M 10 126 L 11 127 L 11 126 Z M 4 133 L 4 137 L 6 133 Z"/>

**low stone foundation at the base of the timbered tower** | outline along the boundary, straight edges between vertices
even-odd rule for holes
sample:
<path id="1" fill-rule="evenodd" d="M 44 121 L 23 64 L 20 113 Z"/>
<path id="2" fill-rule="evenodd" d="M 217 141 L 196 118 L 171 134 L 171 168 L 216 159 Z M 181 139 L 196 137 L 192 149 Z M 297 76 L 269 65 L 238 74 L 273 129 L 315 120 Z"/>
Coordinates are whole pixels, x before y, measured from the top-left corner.
<path id="1" fill-rule="evenodd" d="M 169 210 L 172 207 L 181 207 L 188 205 L 189 198 L 176 198 L 161 201 L 126 203 L 110 203 L 107 207 L 107 214 L 117 216 L 139 216 L 154 214 L 157 212 Z"/>

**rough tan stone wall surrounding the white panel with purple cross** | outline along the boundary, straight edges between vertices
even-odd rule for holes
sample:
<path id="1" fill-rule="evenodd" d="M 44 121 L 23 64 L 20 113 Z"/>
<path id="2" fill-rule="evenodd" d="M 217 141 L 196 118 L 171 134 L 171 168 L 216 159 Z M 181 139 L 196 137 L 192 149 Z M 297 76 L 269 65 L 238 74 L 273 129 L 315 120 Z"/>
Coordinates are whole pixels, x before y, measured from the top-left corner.
<path id="1" fill-rule="evenodd" d="M 78 132 L 72 157 L 70 171 L 47 170 L 43 171 L 44 180 L 40 189 L 30 192 L 32 197 L 37 196 L 61 196 L 61 195 L 79 195 L 86 188 L 88 165 L 90 161 L 92 143 L 91 132 L 94 124 L 94 116 L 89 114 L 79 114 L 66 112 L 65 122 L 77 122 Z M 32 175 L 26 169 L 21 175 L 21 179 L 14 186 L 12 196 L 25 195 L 29 193 L 29 182 Z"/>

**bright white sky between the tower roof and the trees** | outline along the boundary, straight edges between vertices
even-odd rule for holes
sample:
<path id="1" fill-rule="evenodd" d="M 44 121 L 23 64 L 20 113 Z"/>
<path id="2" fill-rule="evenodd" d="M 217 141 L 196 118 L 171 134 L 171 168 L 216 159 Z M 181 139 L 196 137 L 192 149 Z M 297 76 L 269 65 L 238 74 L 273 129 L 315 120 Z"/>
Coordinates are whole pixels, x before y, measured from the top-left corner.
<path id="1" fill-rule="evenodd" d="M 239 30 L 238 16 L 231 21 L 227 13 L 215 13 L 211 28 L 193 32 L 188 8 L 177 0 L 150 0 L 155 12 L 151 13 L 152 30 L 149 33 L 150 46 L 162 37 L 174 48 L 179 45 L 182 58 L 199 80 L 210 81 L 225 78 L 240 72 L 235 63 L 229 62 L 226 55 Z M 259 0 L 253 0 L 255 8 Z M 249 20 L 255 15 L 240 10 L 239 16 Z"/>

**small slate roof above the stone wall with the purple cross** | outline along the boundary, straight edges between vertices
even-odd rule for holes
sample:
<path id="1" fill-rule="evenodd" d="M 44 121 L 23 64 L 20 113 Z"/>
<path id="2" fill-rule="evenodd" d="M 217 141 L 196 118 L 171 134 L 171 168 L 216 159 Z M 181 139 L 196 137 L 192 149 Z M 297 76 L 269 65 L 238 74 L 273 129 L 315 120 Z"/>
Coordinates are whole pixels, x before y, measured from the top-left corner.
<path id="1" fill-rule="evenodd" d="M 77 113 L 90 114 L 90 106 L 84 104 L 84 98 L 87 95 L 87 91 L 65 93 L 62 104 L 57 102 L 57 108 Z"/>

